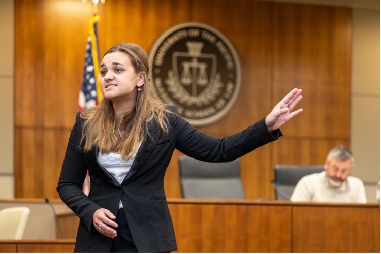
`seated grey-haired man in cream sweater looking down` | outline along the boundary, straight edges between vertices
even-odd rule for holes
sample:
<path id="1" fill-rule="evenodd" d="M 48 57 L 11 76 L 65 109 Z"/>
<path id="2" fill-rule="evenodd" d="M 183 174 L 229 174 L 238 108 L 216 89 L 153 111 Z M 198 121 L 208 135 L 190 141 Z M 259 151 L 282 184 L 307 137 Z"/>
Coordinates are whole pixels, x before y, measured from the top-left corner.
<path id="1" fill-rule="evenodd" d="M 350 149 L 334 147 L 327 155 L 325 170 L 300 179 L 291 201 L 366 203 L 363 182 L 349 175 L 354 162 Z"/>

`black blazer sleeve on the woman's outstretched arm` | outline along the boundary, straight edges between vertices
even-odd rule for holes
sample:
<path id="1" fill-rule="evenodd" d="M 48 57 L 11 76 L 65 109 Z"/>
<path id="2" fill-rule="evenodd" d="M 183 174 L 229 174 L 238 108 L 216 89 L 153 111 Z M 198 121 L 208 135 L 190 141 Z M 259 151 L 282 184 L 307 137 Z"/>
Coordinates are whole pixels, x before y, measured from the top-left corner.
<path id="1" fill-rule="evenodd" d="M 241 132 L 216 138 L 197 130 L 180 116 L 177 118 L 175 134 L 176 149 L 207 162 L 233 161 L 282 136 L 279 129 L 270 133 L 263 118 Z"/>

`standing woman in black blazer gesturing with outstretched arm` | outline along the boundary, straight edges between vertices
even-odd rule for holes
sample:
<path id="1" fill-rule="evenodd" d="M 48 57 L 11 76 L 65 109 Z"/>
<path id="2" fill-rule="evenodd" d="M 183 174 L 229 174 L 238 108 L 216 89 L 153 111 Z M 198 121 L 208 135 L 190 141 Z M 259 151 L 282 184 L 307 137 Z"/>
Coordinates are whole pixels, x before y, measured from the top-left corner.
<path id="1" fill-rule="evenodd" d="M 278 139 L 302 109 L 293 89 L 271 113 L 234 135 L 215 138 L 154 99 L 147 54 L 121 43 L 102 60 L 101 105 L 76 116 L 57 191 L 79 217 L 75 252 L 170 252 L 176 240 L 164 192 L 174 149 L 208 162 L 228 162 Z M 115 166 L 117 165 L 117 166 Z M 82 185 L 89 171 L 88 196 Z"/>

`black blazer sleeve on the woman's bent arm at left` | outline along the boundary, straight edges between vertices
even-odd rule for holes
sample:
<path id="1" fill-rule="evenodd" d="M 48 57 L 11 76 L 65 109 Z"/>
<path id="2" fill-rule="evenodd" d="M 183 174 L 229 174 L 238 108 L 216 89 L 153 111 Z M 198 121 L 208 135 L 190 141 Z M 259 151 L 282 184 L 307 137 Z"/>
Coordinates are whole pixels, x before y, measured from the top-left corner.
<path id="1" fill-rule="evenodd" d="M 79 149 L 82 133 L 82 119 L 79 114 L 80 113 L 78 112 L 76 122 L 70 134 L 61 175 L 58 180 L 57 191 L 61 200 L 83 220 L 90 231 L 92 226 L 92 215 L 101 207 L 90 200 L 82 192 L 87 166 L 84 154 Z"/>

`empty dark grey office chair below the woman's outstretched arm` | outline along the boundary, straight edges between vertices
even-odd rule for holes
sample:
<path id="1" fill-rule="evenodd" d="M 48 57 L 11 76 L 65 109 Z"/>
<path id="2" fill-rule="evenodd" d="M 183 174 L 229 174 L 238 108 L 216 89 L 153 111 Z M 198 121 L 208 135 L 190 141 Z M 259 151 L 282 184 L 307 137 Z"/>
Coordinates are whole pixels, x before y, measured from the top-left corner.
<path id="1" fill-rule="evenodd" d="M 179 157 L 183 198 L 244 199 L 239 160 L 210 163 L 188 156 Z"/>

